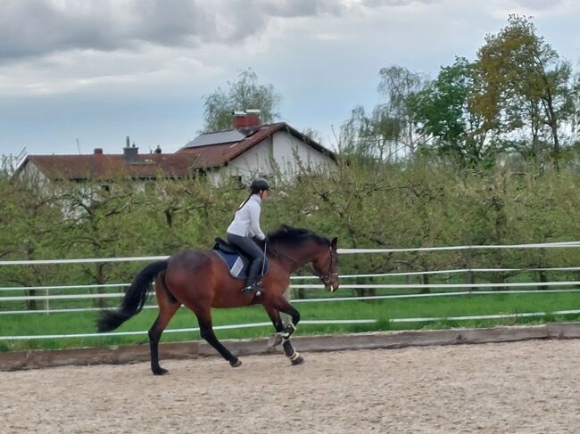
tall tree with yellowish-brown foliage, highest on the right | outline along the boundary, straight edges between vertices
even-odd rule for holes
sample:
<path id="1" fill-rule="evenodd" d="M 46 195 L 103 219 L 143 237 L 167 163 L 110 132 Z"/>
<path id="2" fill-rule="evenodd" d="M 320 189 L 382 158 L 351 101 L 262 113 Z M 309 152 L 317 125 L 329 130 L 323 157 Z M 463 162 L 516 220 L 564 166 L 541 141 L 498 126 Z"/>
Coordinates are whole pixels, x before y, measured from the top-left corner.
<path id="1" fill-rule="evenodd" d="M 529 19 L 510 15 L 506 28 L 485 37 L 476 64 L 474 109 L 485 127 L 517 149 L 525 147 L 538 162 L 548 148 L 558 169 L 561 127 L 574 112 L 568 62 L 536 35 Z"/>

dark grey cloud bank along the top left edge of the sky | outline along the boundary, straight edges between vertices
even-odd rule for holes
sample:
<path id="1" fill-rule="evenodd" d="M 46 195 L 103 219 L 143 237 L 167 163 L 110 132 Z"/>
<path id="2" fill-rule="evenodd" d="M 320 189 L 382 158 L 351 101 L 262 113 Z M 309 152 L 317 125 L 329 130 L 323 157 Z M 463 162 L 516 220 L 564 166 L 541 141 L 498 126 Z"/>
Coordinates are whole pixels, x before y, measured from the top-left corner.
<path id="1" fill-rule="evenodd" d="M 0 0 L 0 61 L 143 44 L 236 44 L 270 20 L 433 0 Z"/>

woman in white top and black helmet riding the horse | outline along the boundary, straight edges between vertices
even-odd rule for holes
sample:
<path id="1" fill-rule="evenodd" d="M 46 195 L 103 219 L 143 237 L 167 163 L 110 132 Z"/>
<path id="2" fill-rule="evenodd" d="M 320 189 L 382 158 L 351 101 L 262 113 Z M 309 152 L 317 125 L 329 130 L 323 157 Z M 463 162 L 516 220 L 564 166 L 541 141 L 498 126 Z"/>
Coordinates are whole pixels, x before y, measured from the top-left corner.
<path id="1" fill-rule="evenodd" d="M 258 274 L 264 264 L 264 252 L 253 238 L 262 241 L 266 239 L 260 228 L 260 206 L 261 200 L 268 197 L 268 192 L 269 184 L 265 179 L 254 179 L 250 184 L 250 194 L 236 209 L 234 220 L 227 229 L 228 242 L 253 259 L 242 291 L 256 291 L 257 295 L 261 290 Z"/>

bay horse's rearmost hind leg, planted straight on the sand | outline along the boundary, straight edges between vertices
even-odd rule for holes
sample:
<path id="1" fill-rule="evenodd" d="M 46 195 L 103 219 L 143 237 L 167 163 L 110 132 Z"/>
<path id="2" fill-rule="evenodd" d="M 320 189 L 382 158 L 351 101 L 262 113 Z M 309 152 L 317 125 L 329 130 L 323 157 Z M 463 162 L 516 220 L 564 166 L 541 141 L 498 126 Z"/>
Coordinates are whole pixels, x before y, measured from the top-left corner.
<path id="1" fill-rule="evenodd" d="M 170 323 L 171 318 L 178 311 L 181 303 L 167 290 L 162 275 L 158 276 L 155 280 L 155 293 L 157 294 L 159 314 L 148 332 L 149 348 L 151 350 L 151 371 L 155 375 L 162 375 L 167 373 L 167 370 L 159 365 L 159 340 L 161 340 L 163 330 Z"/>

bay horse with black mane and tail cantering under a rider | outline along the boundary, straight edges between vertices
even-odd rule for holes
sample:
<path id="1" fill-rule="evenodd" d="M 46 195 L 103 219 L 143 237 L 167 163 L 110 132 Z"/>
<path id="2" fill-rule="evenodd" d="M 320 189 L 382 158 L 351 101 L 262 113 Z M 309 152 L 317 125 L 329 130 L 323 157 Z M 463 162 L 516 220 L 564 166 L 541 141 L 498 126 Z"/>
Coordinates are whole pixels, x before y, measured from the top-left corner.
<path id="1" fill-rule="evenodd" d="M 332 241 L 308 229 L 282 225 L 267 238 L 268 271 L 262 278 L 258 296 L 242 292 L 244 279 L 232 277 L 224 261 L 212 250 L 182 250 L 168 259 L 145 266 L 134 278 L 119 309 L 104 311 L 97 319 L 99 332 L 110 332 L 137 315 L 144 307 L 147 291 L 155 281 L 159 314 L 149 329 L 151 370 L 167 373 L 159 364 L 158 346 L 162 332 L 181 305 L 191 309 L 199 323 L 200 334 L 232 367 L 242 362 L 218 340 L 211 327 L 211 307 L 229 308 L 261 304 L 276 329 L 274 345 L 283 343 L 284 354 L 292 364 L 301 364 L 302 356 L 292 346 L 290 336 L 300 321 L 300 313 L 286 300 L 290 274 L 311 263 L 314 273 L 327 291 L 338 289 L 337 239 Z M 286 326 L 280 312 L 292 317 Z"/>

